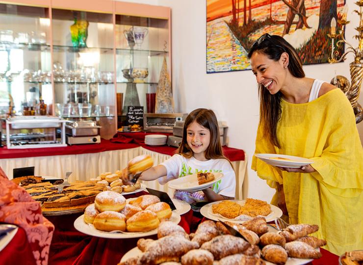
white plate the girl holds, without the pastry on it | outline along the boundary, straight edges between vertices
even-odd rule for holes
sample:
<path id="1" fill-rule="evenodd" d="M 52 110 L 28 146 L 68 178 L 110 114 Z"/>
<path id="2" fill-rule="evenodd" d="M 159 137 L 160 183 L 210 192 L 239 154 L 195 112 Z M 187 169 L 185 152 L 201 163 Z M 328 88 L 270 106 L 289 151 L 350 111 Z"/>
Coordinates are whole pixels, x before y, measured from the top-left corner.
<path id="1" fill-rule="evenodd" d="M 223 178 L 223 174 L 219 172 L 213 172 L 214 180 L 207 182 L 205 184 L 198 185 L 197 174 L 188 175 L 168 182 L 170 188 L 186 191 L 198 191 L 205 189 L 220 179 Z"/>

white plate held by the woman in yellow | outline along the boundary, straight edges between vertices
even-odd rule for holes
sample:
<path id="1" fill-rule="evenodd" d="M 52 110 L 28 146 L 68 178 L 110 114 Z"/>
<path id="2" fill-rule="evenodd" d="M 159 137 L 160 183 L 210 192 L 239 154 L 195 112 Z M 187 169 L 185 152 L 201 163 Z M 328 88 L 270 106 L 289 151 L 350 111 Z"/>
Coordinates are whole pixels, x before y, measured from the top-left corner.
<path id="1" fill-rule="evenodd" d="M 309 165 L 314 161 L 311 159 L 280 155 L 280 154 L 255 154 L 255 157 L 261 159 L 269 165 L 281 167 L 301 167 Z"/>

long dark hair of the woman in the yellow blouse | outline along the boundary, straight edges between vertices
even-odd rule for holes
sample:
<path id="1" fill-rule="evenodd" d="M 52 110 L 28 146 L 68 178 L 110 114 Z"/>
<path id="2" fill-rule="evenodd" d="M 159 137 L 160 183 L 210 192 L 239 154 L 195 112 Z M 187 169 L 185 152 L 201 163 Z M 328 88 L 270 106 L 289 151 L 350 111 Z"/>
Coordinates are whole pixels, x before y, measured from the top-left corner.
<path id="1" fill-rule="evenodd" d="M 257 51 L 274 61 L 278 61 L 282 53 L 287 53 L 289 57 L 287 69 L 290 74 L 296 78 L 305 77 L 299 54 L 283 37 L 268 35 L 260 43 L 252 45 L 248 58 L 250 59 L 252 54 Z M 270 141 L 279 148 L 281 146 L 277 138 L 277 124 L 281 119 L 281 97 L 280 91 L 271 95 L 262 84 L 259 84 L 259 124 L 262 125 L 262 130 Z"/>

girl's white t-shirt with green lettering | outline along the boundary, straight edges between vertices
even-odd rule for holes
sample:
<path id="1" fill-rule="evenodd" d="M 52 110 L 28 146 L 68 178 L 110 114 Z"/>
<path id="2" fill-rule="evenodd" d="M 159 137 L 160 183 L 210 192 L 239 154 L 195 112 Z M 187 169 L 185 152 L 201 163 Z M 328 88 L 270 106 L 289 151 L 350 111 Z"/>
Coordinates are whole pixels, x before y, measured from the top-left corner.
<path id="1" fill-rule="evenodd" d="M 227 159 L 209 159 L 207 161 L 200 161 L 194 157 L 187 159 L 180 154 L 176 154 L 160 164 L 165 166 L 167 171 L 165 177 L 158 179 L 159 183 L 162 185 L 178 177 L 181 178 L 199 172 L 220 172 L 223 173 L 224 176 L 213 185 L 213 191 L 228 197 L 234 197 L 235 195 L 235 173 Z M 196 199 L 195 202 L 197 201 L 203 201 L 203 198 Z"/>

